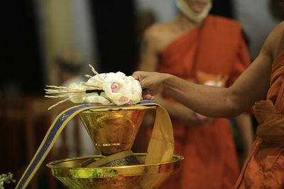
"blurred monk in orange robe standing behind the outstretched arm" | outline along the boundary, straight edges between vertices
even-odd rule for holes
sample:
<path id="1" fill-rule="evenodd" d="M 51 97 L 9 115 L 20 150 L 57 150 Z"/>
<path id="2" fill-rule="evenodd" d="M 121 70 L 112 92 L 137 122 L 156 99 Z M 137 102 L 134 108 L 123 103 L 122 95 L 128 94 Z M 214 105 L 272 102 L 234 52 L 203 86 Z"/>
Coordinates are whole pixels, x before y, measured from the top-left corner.
<path id="1" fill-rule="evenodd" d="M 211 4 L 211 0 L 178 0 L 178 18 L 146 30 L 138 70 L 174 74 L 197 84 L 231 86 L 249 67 L 249 53 L 241 25 L 208 16 Z M 155 101 L 171 116 L 175 154 L 185 156 L 179 171 L 161 188 L 233 188 L 239 162 L 229 120 L 197 114 L 169 96 L 155 96 Z M 249 155 L 251 116 L 244 113 L 236 122 L 248 131 L 244 147 Z"/>

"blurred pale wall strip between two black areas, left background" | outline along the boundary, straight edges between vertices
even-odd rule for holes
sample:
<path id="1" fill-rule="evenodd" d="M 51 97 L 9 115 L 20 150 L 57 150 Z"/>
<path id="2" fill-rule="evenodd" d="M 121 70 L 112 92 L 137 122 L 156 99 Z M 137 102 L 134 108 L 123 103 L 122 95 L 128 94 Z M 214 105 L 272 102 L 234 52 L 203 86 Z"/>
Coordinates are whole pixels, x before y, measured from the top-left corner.
<path id="1" fill-rule="evenodd" d="M 50 65 L 54 55 L 64 47 L 76 47 L 86 59 L 83 73 L 92 74 L 87 64 L 99 71 L 94 21 L 88 0 L 33 0 L 40 33 L 45 84 L 57 84 Z"/>

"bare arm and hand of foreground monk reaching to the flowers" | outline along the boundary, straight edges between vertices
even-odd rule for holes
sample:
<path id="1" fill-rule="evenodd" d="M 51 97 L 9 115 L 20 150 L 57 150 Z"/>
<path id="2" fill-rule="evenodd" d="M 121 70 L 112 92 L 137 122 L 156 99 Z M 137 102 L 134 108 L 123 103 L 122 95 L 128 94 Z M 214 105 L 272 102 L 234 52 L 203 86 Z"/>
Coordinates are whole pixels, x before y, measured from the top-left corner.
<path id="1" fill-rule="evenodd" d="M 229 88 L 193 84 L 170 74 L 138 71 L 133 76 L 151 95 L 164 92 L 202 115 L 234 118 L 254 102 L 265 98 L 269 88 L 273 46 L 278 42 L 280 32 L 283 30 L 273 30 L 255 61 Z"/>

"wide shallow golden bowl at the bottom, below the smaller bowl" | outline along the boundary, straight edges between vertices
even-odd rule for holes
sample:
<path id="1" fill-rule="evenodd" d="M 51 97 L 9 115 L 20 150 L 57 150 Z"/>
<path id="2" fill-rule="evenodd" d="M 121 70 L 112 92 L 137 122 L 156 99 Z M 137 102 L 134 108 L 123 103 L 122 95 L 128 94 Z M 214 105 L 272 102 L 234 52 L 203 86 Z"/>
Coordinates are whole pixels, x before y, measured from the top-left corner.
<path id="1" fill-rule="evenodd" d="M 146 153 L 134 153 L 141 165 L 115 166 L 99 168 L 77 168 L 88 159 L 100 159 L 98 156 L 84 156 L 62 159 L 47 164 L 53 176 L 68 188 L 158 188 L 179 168 L 183 156 L 173 155 L 173 161 L 158 164 L 143 164 Z"/>

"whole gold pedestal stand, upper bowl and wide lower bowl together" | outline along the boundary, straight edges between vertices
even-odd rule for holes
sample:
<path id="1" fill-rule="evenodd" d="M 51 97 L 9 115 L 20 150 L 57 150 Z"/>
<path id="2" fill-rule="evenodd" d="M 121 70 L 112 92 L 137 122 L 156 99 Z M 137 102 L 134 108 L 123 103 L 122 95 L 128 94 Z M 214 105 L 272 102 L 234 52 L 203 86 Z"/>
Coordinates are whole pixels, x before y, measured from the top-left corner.
<path id="1" fill-rule="evenodd" d="M 144 164 L 145 153 L 129 154 L 144 115 L 153 108 L 155 106 L 130 105 L 124 108 L 91 109 L 80 113 L 84 127 L 102 155 L 50 162 L 47 166 L 51 168 L 53 176 L 68 188 L 76 189 L 158 188 L 178 169 L 183 157 L 173 155 L 172 161 Z M 128 155 L 117 158 L 116 154 L 124 152 Z M 111 159 L 112 166 L 106 164 L 106 156 L 114 157 Z M 131 163 L 128 162 L 129 157 L 131 161 L 138 163 L 128 164 Z M 104 163 L 98 166 L 96 163 L 101 161 Z"/>

